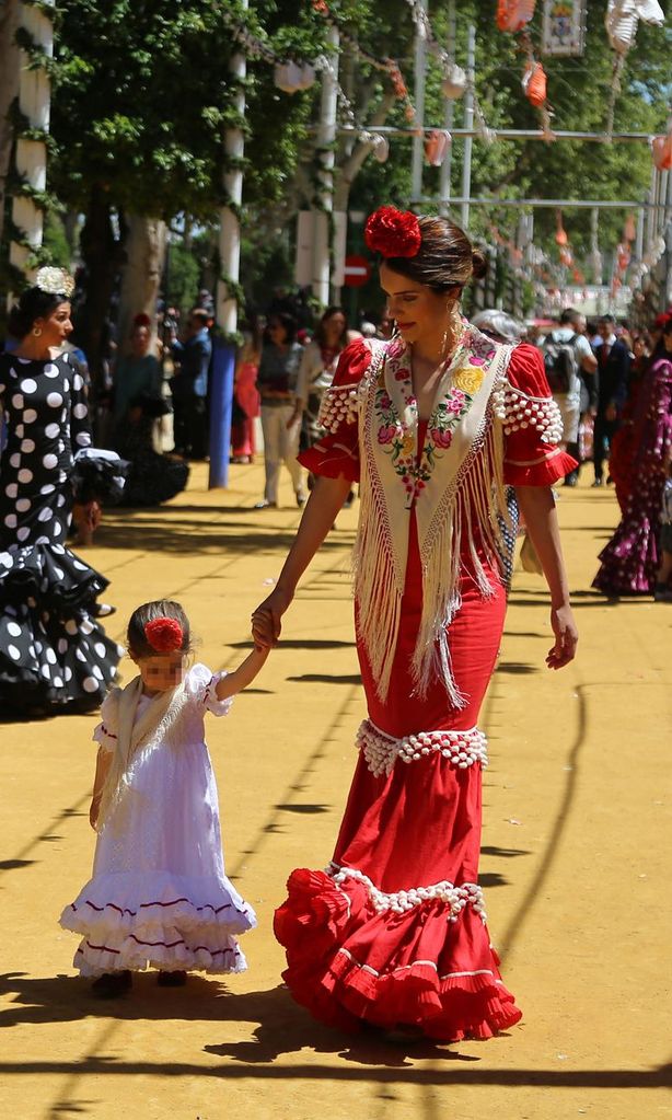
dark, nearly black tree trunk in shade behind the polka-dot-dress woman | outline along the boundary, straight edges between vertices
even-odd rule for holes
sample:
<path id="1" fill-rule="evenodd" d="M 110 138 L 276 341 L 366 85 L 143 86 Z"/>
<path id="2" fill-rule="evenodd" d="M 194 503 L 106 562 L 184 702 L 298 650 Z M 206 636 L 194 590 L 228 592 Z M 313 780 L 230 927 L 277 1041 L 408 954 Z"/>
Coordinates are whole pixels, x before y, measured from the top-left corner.
<path id="1" fill-rule="evenodd" d="M 86 354 L 94 391 L 102 393 L 109 370 L 110 301 L 123 245 L 114 237 L 112 207 L 100 185 L 91 192 L 80 248 L 86 270 L 86 301 L 77 316 L 77 340 Z"/>

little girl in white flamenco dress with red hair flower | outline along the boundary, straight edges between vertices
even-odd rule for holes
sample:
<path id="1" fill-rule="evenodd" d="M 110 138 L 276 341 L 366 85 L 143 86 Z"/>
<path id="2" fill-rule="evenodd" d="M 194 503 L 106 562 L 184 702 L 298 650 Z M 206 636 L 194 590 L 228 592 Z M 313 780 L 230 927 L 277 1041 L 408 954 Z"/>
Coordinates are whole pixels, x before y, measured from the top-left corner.
<path id="1" fill-rule="evenodd" d="M 164 987 L 184 984 L 192 969 L 241 972 L 237 936 L 256 925 L 224 874 L 204 716 L 228 712 L 267 651 L 228 674 L 186 670 L 189 622 L 170 600 L 138 607 L 128 647 L 139 676 L 110 692 L 93 736 L 93 876 L 60 915 L 82 936 L 75 968 L 104 998 L 127 991 L 131 973 L 148 965 Z"/>

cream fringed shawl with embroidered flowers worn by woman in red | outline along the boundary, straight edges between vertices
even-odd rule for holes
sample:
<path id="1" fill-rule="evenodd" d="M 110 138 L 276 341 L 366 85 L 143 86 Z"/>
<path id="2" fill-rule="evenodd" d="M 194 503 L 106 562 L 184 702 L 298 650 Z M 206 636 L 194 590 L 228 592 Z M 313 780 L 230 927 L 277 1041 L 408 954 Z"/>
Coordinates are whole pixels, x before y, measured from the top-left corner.
<path id="1" fill-rule="evenodd" d="M 464 707 L 450 668 L 447 627 L 460 606 L 463 533 L 482 594 L 489 596 L 494 590 L 477 547 L 485 550 L 489 563 L 498 566 L 497 514 L 506 523 L 508 515 L 502 426 L 494 422 L 492 394 L 505 376 L 512 347 L 498 346 L 466 326 L 437 386 L 419 464 L 410 351 L 400 339 L 372 347 L 373 360 L 360 383 L 357 402 L 362 464 L 354 556 L 358 634 L 384 700 L 399 635 L 409 517 L 414 506 L 422 618 L 412 660 L 413 685 L 422 696 L 439 674 L 451 702 Z"/>

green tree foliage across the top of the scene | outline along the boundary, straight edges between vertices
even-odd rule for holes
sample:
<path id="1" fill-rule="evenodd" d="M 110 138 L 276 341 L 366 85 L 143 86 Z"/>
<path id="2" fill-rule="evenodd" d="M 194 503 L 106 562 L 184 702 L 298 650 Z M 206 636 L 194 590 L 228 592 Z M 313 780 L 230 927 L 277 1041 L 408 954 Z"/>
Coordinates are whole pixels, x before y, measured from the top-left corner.
<path id="1" fill-rule="evenodd" d="M 549 102 L 558 129 L 603 131 L 606 123 L 613 53 L 607 45 L 604 16 L 607 0 L 588 4 L 587 50 L 582 58 L 544 59 Z M 376 119 L 408 129 L 404 103 L 390 96 L 388 75 L 353 48 L 357 40 L 377 59 L 399 62 L 412 94 L 414 28 L 408 0 L 334 0 L 346 35 L 339 57 L 340 83 L 357 122 Z M 326 49 L 327 24 L 306 0 L 252 0 L 244 13 L 237 0 L 62 0 L 57 29 L 56 86 L 53 132 L 57 155 L 50 181 L 58 197 L 87 216 L 82 248 L 95 278 L 100 315 L 110 298 L 120 259 L 124 213 L 167 221 L 189 215 L 203 226 L 216 222 L 225 202 L 226 160 L 223 136 L 236 123 L 235 92 L 227 71 L 236 49 L 232 19 L 243 21 L 279 56 L 315 59 Z M 516 37 L 496 28 L 495 0 L 459 0 L 456 58 L 465 64 L 469 22 L 476 27 L 476 88 L 487 121 L 497 130 L 538 127 L 521 76 L 523 57 Z M 430 0 L 430 17 L 442 45 L 447 44 L 447 4 Z M 531 25 L 540 34 L 541 4 Z M 641 25 L 628 54 L 623 90 L 616 103 L 617 131 L 662 131 L 665 125 L 669 80 L 669 36 Z M 319 77 L 312 88 L 288 95 L 273 82 L 273 66 L 251 57 L 245 83 L 246 150 L 243 198 L 243 280 L 251 293 L 264 290 L 265 271 L 273 283 L 290 280 L 296 212 L 310 206 L 316 188 L 316 127 Z M 445 99 L 441 71 L 429 59 L 426 124 L 442 127 Z M 455 124 L 463 105 L 456 103 Z M 342 122 L 345 120 L 343 111 Z M 391 138 L 386 164 L 371 156 L 363 162 L 349 193 L 351 209 L 367 212 L 383 202 L 410 202 L 411 137 Z M 336 144 L 336 179 L 348 166 L 357 140 L 340 133 Z M 464 146 L 455 140 L 452 193 L 459 194 Z M 651 156 L 644 144 L 542 143 L 497 140 L 474 144 L 474 195 L 502 197 L 644 196 Z M 423 193 L 438 190 L 439 172 L 424 168 Z M 623 214 L 600 218 L 603 241 L 619 240 Z M 492 237 L 493 225 L 510 235 L 517 220 L 504 207 L 472 212 L 473 230 Z M 554 214 L 539 211 L 538 236 L 551 249 Z M 578 254 L 588 245 L 587 212 L 564 215 Z M 121 235 L 121 237 L 120 237 Z"/>

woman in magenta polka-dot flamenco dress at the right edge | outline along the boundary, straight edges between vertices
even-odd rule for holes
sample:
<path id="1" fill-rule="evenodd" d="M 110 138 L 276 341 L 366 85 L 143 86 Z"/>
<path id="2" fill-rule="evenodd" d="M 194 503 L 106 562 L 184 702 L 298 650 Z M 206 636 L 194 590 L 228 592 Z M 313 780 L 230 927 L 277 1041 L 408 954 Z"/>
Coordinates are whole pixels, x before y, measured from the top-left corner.
<path id="1" fill-rule="evenodd" d="M 605 595 L 652 595 L 661 562 L 663 487 L 672 455 L 672 315 L 642 377 L 633 417 L 623 516 L 599 554 L 592 586 Z"/>

